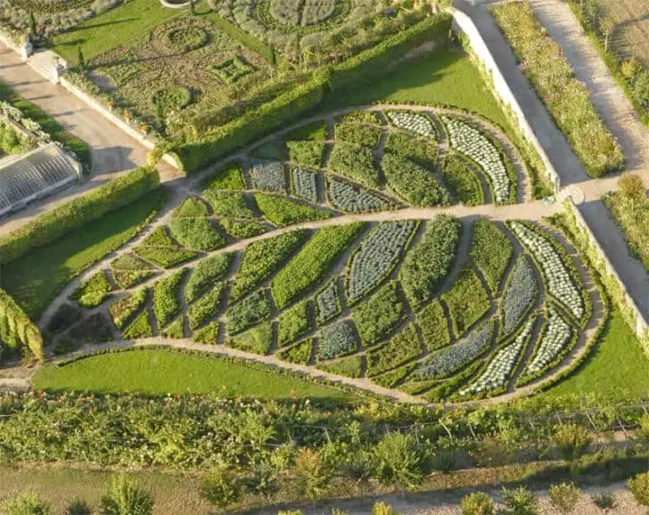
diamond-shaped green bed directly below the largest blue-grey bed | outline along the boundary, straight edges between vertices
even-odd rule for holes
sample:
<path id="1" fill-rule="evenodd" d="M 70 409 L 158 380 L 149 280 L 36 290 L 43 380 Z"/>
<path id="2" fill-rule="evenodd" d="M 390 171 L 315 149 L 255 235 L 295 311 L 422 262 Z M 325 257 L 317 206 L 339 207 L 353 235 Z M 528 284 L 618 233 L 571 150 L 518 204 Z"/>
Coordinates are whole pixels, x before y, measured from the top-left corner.
<path id="1" fill-rule="evenodd" d="M 395 282 L 389 282 L 362 304 L 352 309 L 363 345 L 374 345 L 407 318 Z"/>

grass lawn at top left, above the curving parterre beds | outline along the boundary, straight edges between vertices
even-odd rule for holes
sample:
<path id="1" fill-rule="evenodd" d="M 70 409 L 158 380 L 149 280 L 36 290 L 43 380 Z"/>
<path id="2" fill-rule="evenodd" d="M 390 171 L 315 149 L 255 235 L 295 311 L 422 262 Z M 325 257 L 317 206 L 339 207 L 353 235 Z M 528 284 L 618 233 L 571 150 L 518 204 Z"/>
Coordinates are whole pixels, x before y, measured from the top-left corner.
<path id="1" fill-rule="evenodd" d="M 159 0 L 130 0 L 101 16 L 53 37 L 53 51 L 71 64 L 78 64 L 78 46 L 86 62 L 101 53 L 130 47 L 149 36 L 160 23 L 184 15 L 186 9 L 166 9 Z"/>

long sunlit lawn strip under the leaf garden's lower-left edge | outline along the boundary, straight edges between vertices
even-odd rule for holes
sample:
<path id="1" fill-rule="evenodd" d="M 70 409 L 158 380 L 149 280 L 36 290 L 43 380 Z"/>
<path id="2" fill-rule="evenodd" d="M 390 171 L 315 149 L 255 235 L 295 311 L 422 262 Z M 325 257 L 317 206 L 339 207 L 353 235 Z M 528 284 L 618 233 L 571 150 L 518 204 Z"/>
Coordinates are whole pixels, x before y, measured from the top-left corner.
<path id="1" fill-rule="evenodd" d="M 184 355 L 147 349 L 89 357 L 62 368 L 46 366 L 34 388 L 100 393 L 215 393 L 259 399 L 308 397 L 336 402 L 351 396 L 337 389 L 234 364 L 218 356 Z"/>

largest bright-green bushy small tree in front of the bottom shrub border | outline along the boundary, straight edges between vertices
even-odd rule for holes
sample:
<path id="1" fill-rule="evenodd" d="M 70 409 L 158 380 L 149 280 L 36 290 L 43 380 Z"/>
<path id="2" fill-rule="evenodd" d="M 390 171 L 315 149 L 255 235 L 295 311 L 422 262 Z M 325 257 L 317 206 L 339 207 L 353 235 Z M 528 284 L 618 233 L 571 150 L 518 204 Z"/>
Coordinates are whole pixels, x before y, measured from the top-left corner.
<path id="1" fill-rule="evenodd" d="M 390 433 L 374 448 L 376 478 L 383 485 L 411 489 L 423 481 L 422 456 L 412 435 Z"/>

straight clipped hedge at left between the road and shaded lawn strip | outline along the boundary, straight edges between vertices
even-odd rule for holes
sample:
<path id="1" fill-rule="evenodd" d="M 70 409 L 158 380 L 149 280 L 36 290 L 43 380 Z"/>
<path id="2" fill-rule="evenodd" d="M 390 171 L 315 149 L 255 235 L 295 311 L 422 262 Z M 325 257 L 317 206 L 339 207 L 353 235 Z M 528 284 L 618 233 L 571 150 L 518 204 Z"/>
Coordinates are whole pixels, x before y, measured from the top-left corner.
<path id="1" fill-rule="evenodd" d="M 0 265 L 78 229 L 110 211 L 127 206 L 160 184 L 155 168 L 136 168 L 92 192 L 70 200 L 0 238 Z"/>

